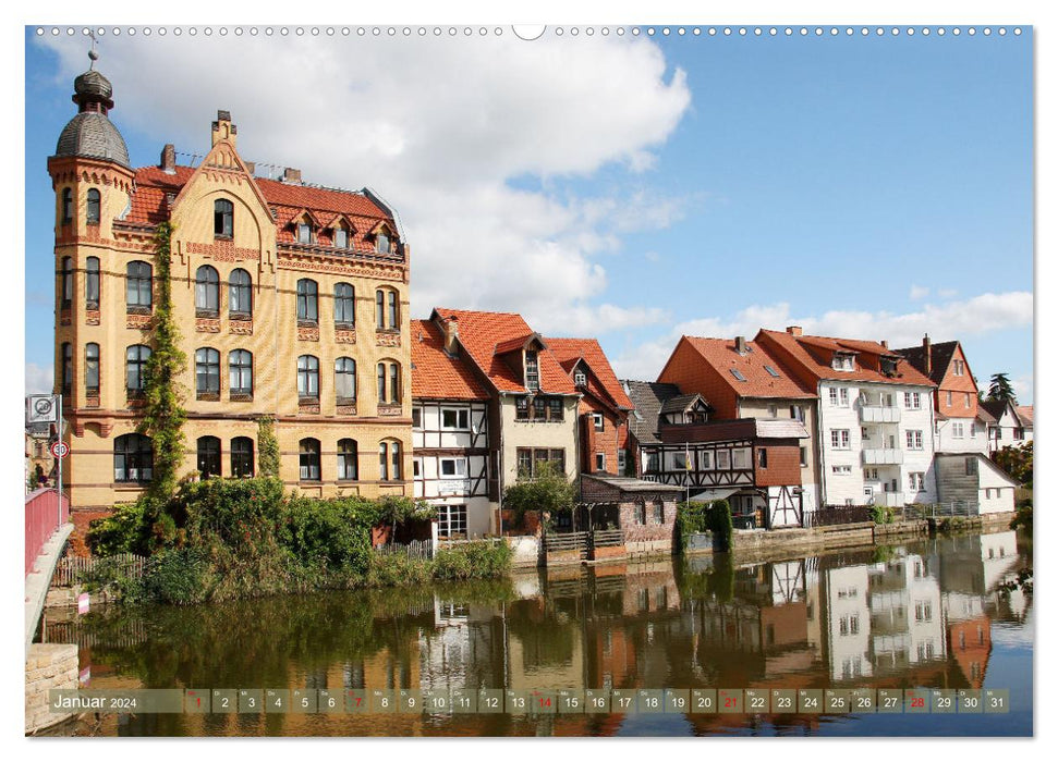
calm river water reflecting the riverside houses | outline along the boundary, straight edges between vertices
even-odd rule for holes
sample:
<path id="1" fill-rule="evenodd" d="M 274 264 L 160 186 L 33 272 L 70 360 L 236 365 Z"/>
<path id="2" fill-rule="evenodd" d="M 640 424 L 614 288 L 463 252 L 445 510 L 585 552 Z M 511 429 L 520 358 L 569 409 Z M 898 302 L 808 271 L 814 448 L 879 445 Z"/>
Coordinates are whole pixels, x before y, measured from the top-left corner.
<path id="1" fill-rule="evenodd" d="M 502 582 L 111 607 L 49 625 L 97 688 L 1009 690 L 1002 714 L 144 714 L 102 736 L 1023 736 L 1032 566 L 1012 531 L 763 563 L 725 554 Z"/>

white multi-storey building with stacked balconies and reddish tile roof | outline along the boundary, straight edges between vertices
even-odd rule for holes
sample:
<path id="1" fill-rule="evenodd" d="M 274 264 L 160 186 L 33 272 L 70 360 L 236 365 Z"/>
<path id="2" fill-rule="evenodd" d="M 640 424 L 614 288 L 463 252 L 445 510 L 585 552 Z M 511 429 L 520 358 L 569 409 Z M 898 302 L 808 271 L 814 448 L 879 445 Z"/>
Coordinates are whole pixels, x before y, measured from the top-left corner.
<path id="1" fill-rule="evenodd" d="M 818 396 L 822 504 L 936 502 L 928 377 L 880 342 L 798 327 L 762 330 L 755 341 Z"/>

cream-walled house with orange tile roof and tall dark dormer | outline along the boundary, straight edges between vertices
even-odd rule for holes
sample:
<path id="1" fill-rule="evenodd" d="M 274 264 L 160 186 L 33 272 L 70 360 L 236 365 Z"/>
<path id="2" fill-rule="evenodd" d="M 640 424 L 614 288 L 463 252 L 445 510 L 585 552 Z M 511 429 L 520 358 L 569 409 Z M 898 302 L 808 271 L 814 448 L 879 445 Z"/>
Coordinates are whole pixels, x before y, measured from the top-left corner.
<path id="1" fill-rule="evenodd" d="M 437 307 L 430 321 L 488 393 L 489 500 L 544 463 L 575 478 L 581 395 L 546 341 L 510 312 Z"/>

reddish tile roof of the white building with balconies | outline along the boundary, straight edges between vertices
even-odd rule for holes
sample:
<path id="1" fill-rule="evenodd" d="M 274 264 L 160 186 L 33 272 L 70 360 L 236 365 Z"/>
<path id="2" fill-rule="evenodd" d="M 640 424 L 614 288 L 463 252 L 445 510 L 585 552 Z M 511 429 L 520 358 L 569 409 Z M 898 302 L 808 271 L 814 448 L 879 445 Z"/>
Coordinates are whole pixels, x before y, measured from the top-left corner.
<path id="1" fill-rule="evenodd" d="M 936 385 L 900 354 L 878 342 L 831 336 L 795 336 L 786 331 L 761 329 L 756 336 L 756 343 L 765 344 L 769 351 L 781 358 L 783 364 L 795 366 L 795 370 L 802 378 L 807 376 L 815 380 L 855 380 L 917 386 Z M 830 365 L 835 352 L 858 353 L 855 369 L 836 370 Z M 883 356 L 900 360 L 896 376 L 889 377 L 880 371 L 878 361 Z"/>

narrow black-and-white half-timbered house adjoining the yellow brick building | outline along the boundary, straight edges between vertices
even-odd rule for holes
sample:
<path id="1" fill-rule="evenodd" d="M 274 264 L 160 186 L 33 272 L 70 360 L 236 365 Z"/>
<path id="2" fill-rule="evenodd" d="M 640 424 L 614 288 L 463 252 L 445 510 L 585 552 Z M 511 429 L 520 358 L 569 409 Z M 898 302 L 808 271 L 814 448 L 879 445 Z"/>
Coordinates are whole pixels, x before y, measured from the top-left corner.
<path id="1" fill-rule="evenodd" d="M 437 509 L 437 533 L 471 539 L 495 531 L 489 500 L 489 395 L 443 328 L 413 320 L 412 475 L 415 497 Z"/>

